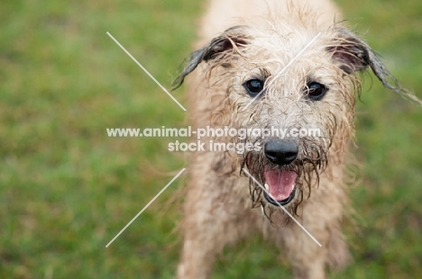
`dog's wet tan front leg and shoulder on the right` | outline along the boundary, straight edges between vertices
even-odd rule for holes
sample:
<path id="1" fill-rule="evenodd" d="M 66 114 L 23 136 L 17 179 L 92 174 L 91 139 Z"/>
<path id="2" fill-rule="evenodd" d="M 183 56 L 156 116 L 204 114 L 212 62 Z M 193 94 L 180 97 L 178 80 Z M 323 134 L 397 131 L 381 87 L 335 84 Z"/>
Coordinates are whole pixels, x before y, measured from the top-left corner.
<path id="1" fill-rule="evenodd" d="M 281 212 L 270 228 L 271 240 L 285 249 L 282 254 L 289 258 L 296 279 L 324 279 L 326 266 L 341 268 L 350 260 L 341 232 L 343 192 L 325 185 L 313 190 L 312 199 L 305 200 L 294 216 L 322 247 L 293 221 L 287 226 L 278 221 L 286 218 Z"/>

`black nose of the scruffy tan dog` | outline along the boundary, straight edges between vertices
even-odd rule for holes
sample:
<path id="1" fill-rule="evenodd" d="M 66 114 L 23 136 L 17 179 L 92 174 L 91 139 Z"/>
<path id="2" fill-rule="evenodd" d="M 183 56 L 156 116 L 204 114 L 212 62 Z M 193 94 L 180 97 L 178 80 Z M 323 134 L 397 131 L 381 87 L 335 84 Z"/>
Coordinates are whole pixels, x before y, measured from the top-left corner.
<path id="1" fill-rule="evenodd" d="M 289 165 L 298 157 L 298 145 L 293 141 L 274 139 L 265 143 L 264 152 L 272 163 Z"/>

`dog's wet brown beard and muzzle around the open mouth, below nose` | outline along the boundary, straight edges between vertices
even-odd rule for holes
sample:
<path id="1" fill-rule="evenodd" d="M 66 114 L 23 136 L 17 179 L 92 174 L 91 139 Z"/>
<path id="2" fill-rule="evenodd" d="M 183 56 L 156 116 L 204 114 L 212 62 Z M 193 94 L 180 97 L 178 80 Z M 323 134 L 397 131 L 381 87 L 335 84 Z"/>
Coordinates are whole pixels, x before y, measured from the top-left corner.
<path id="1" fill-rule="evenodd" d="M 319 186 L 319 175 L 325 171 L 328 161 L 327 150 L 312 138 L 300 139 L 299 150 L 298 157 L 283 166 L 271 163 L 262 149 L 243 154 L 241 169 L 245 167 L 261 184 L 250 177 L 252 207 L 261 206 L 269 220 L 275 211 L 282 211 L 280 205 L 290 214 L 298 215 L 298 205 L 304 201 L 304 197 L 311 198 L 311 189 Z"/>

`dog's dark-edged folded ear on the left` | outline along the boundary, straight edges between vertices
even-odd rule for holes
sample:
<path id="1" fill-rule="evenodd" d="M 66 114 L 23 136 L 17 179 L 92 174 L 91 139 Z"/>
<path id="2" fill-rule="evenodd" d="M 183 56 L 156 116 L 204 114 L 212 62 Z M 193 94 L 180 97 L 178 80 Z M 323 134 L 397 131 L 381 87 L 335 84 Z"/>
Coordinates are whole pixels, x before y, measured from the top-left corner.
<path id="1" fill-rule="evenodd" d="M 204 48 L 197 49 L 190 54 L 188 63 L 180 75 L 173 82 L 173 90 L 183 84 L 188 76 L 202 61 L 221 58 L 227 51 L 236 51 L 239 47 L 247 44 L 247 36 L 244 26 L 234 26 L 227 29 L 223 34 L 214 38 Z"/>

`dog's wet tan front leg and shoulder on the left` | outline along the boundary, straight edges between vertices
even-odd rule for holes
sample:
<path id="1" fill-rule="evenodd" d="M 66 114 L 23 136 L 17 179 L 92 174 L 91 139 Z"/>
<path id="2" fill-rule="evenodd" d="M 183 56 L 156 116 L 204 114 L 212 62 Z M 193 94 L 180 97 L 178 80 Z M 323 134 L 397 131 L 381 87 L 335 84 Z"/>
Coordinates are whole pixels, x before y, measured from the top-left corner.
<path id="1" fill-rule="evenodd" d="M 185 201 L 179 279 L 209 278 L 216 255 L 225 245 L 251 233 L 253 221 L 248 192 L 245 198 L 235 192 L 239 178 L 217 175 L 209 166 L 210 156 L 198 157 L 197 161 L 202 164 L 191 170 Z M 244 180 L 243 188 L 247 190 L 248 182 Z"/>

